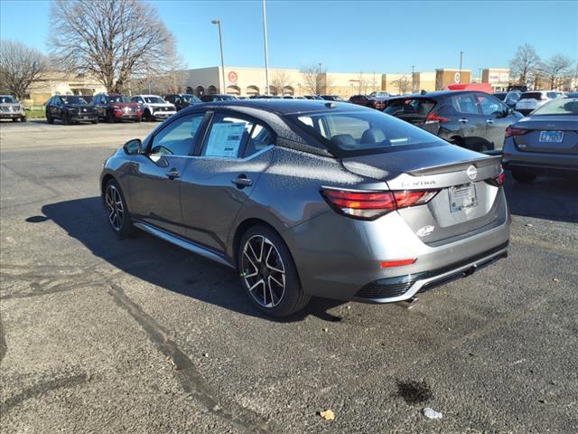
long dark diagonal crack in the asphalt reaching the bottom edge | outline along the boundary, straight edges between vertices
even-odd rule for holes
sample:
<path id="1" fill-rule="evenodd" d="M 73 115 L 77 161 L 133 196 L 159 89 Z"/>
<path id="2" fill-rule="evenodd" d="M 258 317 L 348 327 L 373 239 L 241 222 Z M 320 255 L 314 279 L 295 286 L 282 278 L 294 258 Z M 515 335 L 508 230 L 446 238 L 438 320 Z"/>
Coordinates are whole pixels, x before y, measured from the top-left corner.
<path id="1" fill-rule="evenodd" d="M 269 426 L 269 421 L 264 420 L 252 410 L 248 410 L 234 402 L 228 404 L 228 409 L 224 408 L 219 403 L 216 392 L 205 382 L 191 359 L 184 354 L 177 344 L 168 338 L 163 328 L 151 316 L 144 313 L 141 307 L 126 296 L 123 288 L 112 284 L 108 293 L 114 297 L 118 307 L 126 310 L 144 328 L 149 339 L 159 351 L 170 357 L 172 363 L 174 363 L 175 375 L 181 382 L 184 392 L 195 396 L 211 413 L 222 419 L 234 422 L 242 428 L 258 433 L 273 432 Z"/>

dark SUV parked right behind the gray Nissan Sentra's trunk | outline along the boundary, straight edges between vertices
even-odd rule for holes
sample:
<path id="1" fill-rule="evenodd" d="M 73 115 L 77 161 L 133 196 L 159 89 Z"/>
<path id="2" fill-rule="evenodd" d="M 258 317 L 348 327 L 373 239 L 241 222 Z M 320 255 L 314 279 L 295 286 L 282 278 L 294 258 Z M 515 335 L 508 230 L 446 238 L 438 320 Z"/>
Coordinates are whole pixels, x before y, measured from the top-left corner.
<path id="1" fill-rule="evenodd" d="M 387 101 L 388 115 L 487 154 L 501 153 L 506 128 L 522 118 L 499 99 L 474 90 L 443 90 Z"/>

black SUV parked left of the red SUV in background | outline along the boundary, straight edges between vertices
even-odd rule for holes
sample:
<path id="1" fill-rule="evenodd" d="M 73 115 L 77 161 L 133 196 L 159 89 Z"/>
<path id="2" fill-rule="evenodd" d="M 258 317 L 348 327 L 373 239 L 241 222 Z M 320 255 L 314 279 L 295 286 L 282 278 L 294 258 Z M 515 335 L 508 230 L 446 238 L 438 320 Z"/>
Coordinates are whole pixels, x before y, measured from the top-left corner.
<path id="1" fill-rule="evenodd" d="M 78 95 L 54 95 L 46 102 L 45 109 L 49 124 L 53 124 L 54 119 L 61 120 L 63 124 L 98 123 L 97 109 Z"/>

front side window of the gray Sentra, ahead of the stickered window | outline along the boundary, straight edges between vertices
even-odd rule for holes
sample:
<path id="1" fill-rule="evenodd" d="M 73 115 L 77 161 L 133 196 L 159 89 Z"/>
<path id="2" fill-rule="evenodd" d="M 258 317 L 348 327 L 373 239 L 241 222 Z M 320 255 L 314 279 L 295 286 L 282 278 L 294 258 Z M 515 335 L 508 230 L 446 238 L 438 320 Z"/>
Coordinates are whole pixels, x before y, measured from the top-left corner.
<path id="1" fill-rule="evenodd" d="M 204 113 L 183 116 L 154 136 L 150 153 L 156 156 L 188 156 L 199 131 Z"/>

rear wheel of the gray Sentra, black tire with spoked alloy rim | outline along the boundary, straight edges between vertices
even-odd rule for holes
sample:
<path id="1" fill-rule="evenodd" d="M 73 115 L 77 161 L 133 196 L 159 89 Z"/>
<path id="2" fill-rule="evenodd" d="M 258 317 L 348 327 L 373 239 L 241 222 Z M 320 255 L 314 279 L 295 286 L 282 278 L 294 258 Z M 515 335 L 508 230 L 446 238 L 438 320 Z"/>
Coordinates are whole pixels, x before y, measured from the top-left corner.
<path id="1" fill-rule="evenodd" d="M 289 316 L 307 306 L 291 252 L 275 231 L 250 228 L 238 244 L 241 285 L 251 302 L 268 316 Z"/>

